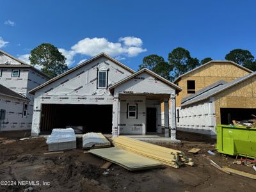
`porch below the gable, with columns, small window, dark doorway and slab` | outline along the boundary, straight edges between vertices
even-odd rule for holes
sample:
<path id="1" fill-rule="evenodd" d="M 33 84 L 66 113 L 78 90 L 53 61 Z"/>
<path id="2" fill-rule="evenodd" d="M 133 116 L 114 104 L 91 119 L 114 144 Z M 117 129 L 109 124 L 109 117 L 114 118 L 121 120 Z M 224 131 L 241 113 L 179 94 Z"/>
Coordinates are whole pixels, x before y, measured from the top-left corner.
<path id="1" fill-rule="evenodd" d="M 164 102 L 162 125 L 161 103 Z M 115 112 L 117 111 L 117 113 Z M 170 143 L 176 140 L 175 96 L 173 94 L 120 93 L 113 102 L 113 136 Z M 163 132 L 164 127 L 164 132 Z"/>

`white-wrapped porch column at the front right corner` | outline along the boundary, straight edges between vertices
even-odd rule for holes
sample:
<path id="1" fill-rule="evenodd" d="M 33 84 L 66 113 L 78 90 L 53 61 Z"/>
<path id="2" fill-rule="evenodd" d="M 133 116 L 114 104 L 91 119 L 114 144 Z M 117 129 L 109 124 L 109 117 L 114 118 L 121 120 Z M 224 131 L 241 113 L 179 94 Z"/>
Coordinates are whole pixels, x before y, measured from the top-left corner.
<path id="1" fill-rule="evenodd" d="M 176 140 L 176 104 L 175 104 L 175 94 L 171 94 L 170 102 L 170 129 L 171 129 L 171 140 Z"/>

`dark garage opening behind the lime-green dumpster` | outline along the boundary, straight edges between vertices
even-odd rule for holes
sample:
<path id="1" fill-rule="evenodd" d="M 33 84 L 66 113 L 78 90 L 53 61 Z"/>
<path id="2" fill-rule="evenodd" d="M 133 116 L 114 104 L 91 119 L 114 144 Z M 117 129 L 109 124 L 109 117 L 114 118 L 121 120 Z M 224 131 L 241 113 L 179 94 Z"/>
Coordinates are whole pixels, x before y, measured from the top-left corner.
<path id="1" fill-rule="evenodd" d="M 221 108 L 221 124 L 232 124 L 232 120 L 248 120 L 252 119 L 252 114 L 256 115 L 256 109 L 243 109 L 243 108 Z"/>

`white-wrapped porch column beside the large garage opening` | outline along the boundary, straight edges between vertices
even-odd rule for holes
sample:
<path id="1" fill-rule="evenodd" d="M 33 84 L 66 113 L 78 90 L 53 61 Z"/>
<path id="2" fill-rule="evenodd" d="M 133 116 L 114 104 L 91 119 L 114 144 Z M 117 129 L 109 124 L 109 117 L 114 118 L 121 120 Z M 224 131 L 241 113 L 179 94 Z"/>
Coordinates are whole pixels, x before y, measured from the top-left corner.
<path id="1" fill-rule="evenodd" d="M 113 100 L 113 113 L 112 113 L 112 136 L 116 137 L 119 135 L 119 113 L 120 113 L 120 99 L 118 97 L 114 97 Z"/>

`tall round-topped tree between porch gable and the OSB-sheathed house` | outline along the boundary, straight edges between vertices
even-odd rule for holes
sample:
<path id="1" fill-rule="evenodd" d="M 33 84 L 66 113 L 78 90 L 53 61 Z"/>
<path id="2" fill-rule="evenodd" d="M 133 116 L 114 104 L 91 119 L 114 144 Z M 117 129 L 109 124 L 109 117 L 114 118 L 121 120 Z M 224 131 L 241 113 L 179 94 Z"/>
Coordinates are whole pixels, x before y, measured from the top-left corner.
<path id="1" fill-rule="evenodd" d="M 191 58 L 188 50 L 177 47 L 168 54 L 170 68 L 173 69 L 173 77 L 177 78 L 180 75 L 192 70 L 199 65 L 197 58 Z"/>

